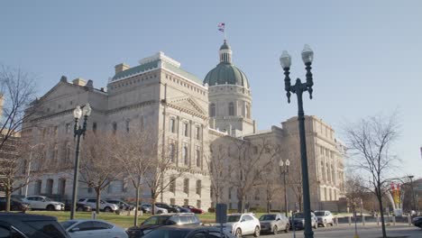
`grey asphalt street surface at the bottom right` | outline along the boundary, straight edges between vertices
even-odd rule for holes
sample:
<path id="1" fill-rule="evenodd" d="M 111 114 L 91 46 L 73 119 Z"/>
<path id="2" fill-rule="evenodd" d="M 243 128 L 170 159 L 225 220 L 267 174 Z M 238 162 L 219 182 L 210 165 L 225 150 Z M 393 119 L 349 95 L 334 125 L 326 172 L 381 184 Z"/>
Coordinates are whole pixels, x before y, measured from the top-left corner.
<path id="1" fill-rule="evenodd" d="M 378 238 L 382 236 L 381 226 L 374 224 L 368 224 L 365 226 L 358 226 L 358 235 L 360 238 Z M 404 224 L 398 224 L 396 226 L 387 227 L 387 235 L 389 237 L 408 237 L 408 238 L 417 238 L 422 237 L 422 230 L 415 226 L 408 226 Z M 289 233 L 278 233 L 274 234 L 261 234 L 265 238 L 287 238 L 293 237 L 293 232 Z M 330 238 L 330 237 L 342 237 L 342 238 L 353 238 L 354 236 L 354 226 L 349 224 L 339 224 L 338 226 L 328 226 L 328 227 L 318 227 L 314 230 L 314 237 L 316 238 Z M 303 230 L 296 232 L 296 237 L 304 237 Z"/>

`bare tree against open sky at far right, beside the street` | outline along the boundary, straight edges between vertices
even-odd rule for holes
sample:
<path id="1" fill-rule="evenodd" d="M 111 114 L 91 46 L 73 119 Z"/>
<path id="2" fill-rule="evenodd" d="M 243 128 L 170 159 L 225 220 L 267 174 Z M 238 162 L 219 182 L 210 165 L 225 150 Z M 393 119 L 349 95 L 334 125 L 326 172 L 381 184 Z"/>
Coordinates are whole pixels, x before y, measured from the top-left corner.
<path id="1" fill-rule="evenodd" d="M 397 157 L 391 152 L 399 136 L 396 116 L 370 116 L 345 127 L 347 147 L 352 155 L 352 167 L 370 177 L 368 189 L 378 199 L 381 213 L 382 236 L 387 237 L 382 197 L 388 186 L 388 171 L 394 167 Z"/>

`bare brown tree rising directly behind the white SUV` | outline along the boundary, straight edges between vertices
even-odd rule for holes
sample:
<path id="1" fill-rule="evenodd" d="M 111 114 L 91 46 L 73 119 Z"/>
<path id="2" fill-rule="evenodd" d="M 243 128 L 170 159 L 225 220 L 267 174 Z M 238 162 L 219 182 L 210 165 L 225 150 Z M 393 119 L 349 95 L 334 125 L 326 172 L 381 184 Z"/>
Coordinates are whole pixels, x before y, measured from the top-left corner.
<path id="1" fill-rule="evenodd" d="M 239 212 L 244 209 L 247 194 L 252 188 L 262 185 L 263 169 L 271 160 L 279 155 L 279 147 L 272 145 L 268 138 L 252 138 L 249 141 L 230 139 L 230 155 L 233 160 L 229 172 L 233 176 L 229 179 L 237 192 Z"/>

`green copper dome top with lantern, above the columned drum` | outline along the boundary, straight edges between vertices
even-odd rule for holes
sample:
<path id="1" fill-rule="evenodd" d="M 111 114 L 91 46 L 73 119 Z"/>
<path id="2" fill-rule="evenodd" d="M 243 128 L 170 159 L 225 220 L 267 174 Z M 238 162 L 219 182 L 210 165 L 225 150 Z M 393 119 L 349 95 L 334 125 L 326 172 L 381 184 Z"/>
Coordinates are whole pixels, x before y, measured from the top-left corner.
<path id="1" fill-rule="evenodd" d="M 220 47 L 220 63 L 206 74 L 204 84 L 208 84 L 210 87 L 229 84 L 249 88 L 246 75 L 232 64 L 232 50 L 226 41 Z"/>

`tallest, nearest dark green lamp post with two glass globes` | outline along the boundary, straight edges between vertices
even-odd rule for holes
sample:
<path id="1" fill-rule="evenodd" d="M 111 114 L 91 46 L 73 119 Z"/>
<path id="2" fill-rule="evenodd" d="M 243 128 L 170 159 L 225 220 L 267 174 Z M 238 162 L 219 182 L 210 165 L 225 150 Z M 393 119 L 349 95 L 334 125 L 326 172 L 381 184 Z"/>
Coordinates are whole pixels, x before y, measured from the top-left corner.
<path id="1" fill-rule="evenodd" d="M 290 103 L 290 95 L 294 93 L 298 96 L 298 129 L 300 137 L 300 158 L 302 165 L 302 186 L 303 186 L 303 211 L 305 215 L 305 237 L 313 238 L 314 232 L 312 231 L 312 222 L 310 214 L 310 196 L 309 196 L 309 178 L 307 174 L 307 142 L 305 137 L 305 112 L 303 111 L 303 92 L 309 92 L 309 97 L 312 99 L 312 86 L 314 82 L 312 80 L 311 64 L 314 59 L 314 51 L 312 51 L 308 45 L 302 50 L 302 59 L 307 69 L 307 81 L 302 83 L 300 78 L 296 79 L 295 85 L 291 85 L 289 78 L 289 70 L 291 66 L 291 57 L 289 53 L 284 50 L 280 56 L 280 64 L 284 70 L 284 88 L 287 92 L 288 102 Z"/>

